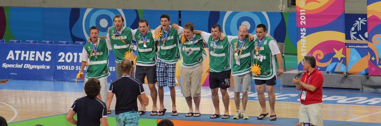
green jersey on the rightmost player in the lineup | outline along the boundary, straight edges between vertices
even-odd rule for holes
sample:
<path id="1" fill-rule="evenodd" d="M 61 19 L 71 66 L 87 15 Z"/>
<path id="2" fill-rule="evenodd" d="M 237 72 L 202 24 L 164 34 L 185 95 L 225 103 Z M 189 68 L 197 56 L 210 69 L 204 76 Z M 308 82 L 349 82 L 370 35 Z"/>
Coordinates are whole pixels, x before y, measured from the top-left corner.
<path id="1" fill-rule="evenodd" d="M 253 79 L 271 79 L 274 77 L 276 72 L 276 66 L 275 66 L 275 58 L 273 54 L 271 53 L 269 43 L 272 39 L 271 37 L 265 37 L 262 44 L 261 42 L 258 42 L 259 40 L 256 39 L 254 42 L 254 50 L 259 47 L 259 54 L 256 55 L 256 51 L 254 52 L 253 56 L 253 64 L 259 65 L 261 67 L 261 74 L 258 76 L 252 76 Z M 260 45 L 260 46 L 259 46 Z M 262 57 L 261 57 L 262 56 Z M 262 58 L 262 61 L 259 59 Z"/>

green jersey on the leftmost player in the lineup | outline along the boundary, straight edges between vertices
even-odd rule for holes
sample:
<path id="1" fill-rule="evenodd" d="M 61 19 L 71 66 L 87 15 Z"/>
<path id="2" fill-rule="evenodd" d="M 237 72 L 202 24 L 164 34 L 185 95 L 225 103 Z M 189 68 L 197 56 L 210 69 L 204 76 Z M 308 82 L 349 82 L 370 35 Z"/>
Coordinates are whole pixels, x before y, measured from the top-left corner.
<path id="1" fill-rule="evenodd" d="M 97 53 L 95 54 L 95 50 L 93 50 L 93 45 L 91 43 L 86 43 L 83 48 L 85 48 L 87 52 L 87 56 L 90 55 L 89 66 L 86 70 L 86 78 L 90 79 L 94 78 L 104 78 L 110 75 L 109 70 L 109 49 L 106 45 L 106 39 L 99 39 L 98 42 Z"/>

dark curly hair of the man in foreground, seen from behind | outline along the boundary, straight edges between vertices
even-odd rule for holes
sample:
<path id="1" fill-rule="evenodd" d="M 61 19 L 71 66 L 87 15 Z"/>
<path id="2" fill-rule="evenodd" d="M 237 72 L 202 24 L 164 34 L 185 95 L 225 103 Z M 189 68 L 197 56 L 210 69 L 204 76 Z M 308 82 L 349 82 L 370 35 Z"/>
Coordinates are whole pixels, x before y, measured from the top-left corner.
<path id="1" fill-rule="evenodd" d="M 90 78 L 86 83 L 85 87 L 85 93 L 90 98 L 95 98 L 99 92 L 101 91 L 101 83 L 97 78 Z"/>

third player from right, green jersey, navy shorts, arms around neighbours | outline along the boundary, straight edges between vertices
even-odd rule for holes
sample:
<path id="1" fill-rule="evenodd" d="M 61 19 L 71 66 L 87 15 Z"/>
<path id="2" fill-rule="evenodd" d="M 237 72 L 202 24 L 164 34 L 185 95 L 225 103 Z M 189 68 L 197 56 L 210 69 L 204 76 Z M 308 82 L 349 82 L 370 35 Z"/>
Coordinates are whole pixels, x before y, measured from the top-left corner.
<path id="1" fill-rule="evenodd" d="M 219 96 L 218 88 L 221 90 L 222 101 L 224 103 L 225 111 L 223 119 L 230 118 L 229 115 L 229 94 L 227 88 L 230 87 L 230 74 L 231 74 L 231 54 L 230 54 L 230 41 L 234 37 L 225 36 L 223 40 L 221 36 L 221 26 L 213 25 L 211 27 L 211 34 L 203 31 L 194 31 L 195 34 L 201 34 L 204 42 L 207 42 L 209 48 L 209 87 L 212 92 L 212 101 L 215 107 L 215 114 L 210 118 L 220 117 L 219 112 Z"/>

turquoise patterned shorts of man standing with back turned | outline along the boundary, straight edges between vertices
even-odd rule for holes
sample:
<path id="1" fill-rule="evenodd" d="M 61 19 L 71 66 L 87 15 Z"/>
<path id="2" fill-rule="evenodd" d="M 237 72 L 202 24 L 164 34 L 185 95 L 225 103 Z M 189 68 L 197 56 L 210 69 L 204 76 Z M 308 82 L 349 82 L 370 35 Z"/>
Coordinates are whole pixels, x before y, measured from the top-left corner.
<path id="1" fill-rule="evenodd" d="M 131 111 L 115 115 L 117 126 L 138 126 L 139 112 Z"/>

